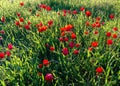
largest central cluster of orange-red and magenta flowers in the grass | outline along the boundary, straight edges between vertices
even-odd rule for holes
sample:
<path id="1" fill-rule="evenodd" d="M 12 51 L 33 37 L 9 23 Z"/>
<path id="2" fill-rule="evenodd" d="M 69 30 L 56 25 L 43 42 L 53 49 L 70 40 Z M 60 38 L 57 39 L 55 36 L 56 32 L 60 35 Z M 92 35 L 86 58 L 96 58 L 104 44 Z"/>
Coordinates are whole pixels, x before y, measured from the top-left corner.
<path id="1" fill-rule="evenodd" d="M 59 41 L 60 42 L 68 42 L 68 47 L 70 47 L 70 49 L 74 48 L 76 46 L 76 48 L 78 48 L 80 46 L 79 43 L 76 43 L 75 44 L 75 40 L 76 39 L 76 34 L 73 32 L 73 25 L 72 24 L 68 24 L 66 25 L 65 27 L 62 27 L 60 28 L 60 31 L 61 31 L 61 37 L 59 38 Z M 70 37 L 71 37 L 71 40 L 68 39 L 69 38 L 69 34 L 70 34 Z M 69 54 L 69 48 L 67 47 L 64 47 L 62 49 L 62 53 L 63 55 L 67 56 Z M 73 50 L 73 54 L 74 55 L 77 55 L 79 54 L 79 50 L 78 49 L 74 49 Z"/>

